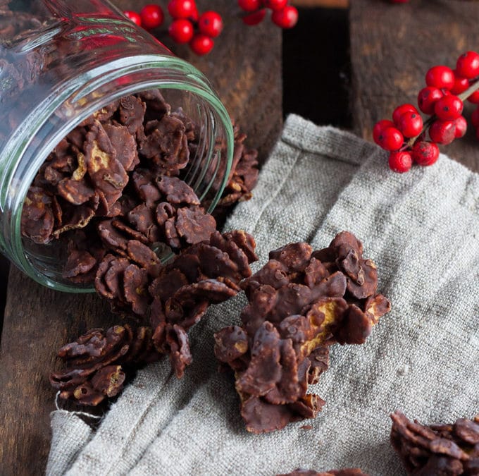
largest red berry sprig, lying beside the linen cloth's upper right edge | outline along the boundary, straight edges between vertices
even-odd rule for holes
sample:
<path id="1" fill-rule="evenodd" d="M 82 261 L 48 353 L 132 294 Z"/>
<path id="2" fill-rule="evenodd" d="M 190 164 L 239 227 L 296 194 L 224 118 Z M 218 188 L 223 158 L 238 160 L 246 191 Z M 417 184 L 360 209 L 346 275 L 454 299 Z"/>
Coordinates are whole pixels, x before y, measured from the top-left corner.
<path id="1" fill-rule="evenodd" d="M 392 121 L 382 119 L 373 128 L 374 142 L 390 152 L 389 166 L 394 172 L 409 171 L 413 162 L 433 165 L 439 157 L 438 144 L 450 144 L 466 133 L 464 100 L 479 104 L 479 54 L 461 54 L 454 71 L 433 66 L 425 75 L 425 83 L 418 94 L 418 109 L 429 116 L 425 121 L 416 106 L 401 104 L 394 109 Z M 471 122 L 479 138 L 479 106 Z M 425 140 L 426 131 L 430 140 Z"/>

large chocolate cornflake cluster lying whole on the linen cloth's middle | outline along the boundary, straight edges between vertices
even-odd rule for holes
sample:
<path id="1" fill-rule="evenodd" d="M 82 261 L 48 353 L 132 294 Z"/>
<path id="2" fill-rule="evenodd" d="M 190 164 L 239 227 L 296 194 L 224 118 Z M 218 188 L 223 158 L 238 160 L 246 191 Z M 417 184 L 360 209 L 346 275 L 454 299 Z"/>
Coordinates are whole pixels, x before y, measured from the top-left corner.
<path id="1" fill-rule="evenodd" d="M 235 372 L 247 430 L 271 432 L 313 418 L 324 401 L 307 393 L 328 369 L 332 343 L 363 343 L 390 302 L 375 264 L 347 231 L 328 248 L 292 243 L 241 284 L 242 327 L 215 334 L 216 357 Z"/>

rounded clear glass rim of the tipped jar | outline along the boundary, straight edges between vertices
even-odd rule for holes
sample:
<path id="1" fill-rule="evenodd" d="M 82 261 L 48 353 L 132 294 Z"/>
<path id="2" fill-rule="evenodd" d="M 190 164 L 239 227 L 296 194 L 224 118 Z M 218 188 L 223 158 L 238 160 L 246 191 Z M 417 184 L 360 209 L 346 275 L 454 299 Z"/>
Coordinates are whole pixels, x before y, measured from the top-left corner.
<path id="1" fill-rule="evenodd" d="M 147 73 L 149 73 L 150 78 L 147 78 Z M 132 81 L 132 78 L 135 78 L 135 80 Z M 122 84 L 122 80 L 125 79 L 127 79 L 127 82 Z M 113 85 L 116 85 L 114 90 L 108 89 Z M 218 203 L 230 176 L 234 135 L 228 111 L 226 111 L 216 93 L 213 92 L 209 81 L 192 64 L 174 56 L 161 54 L 135 55 L 104 63 L 92 71 L 60 85 L 55 93 L 50 94 L 32 111 L 27 121 L 18 126 L 4 148 L 4 154 L 8 159 L 4 170 L 0 174 L 0 209 L 4 213 L 4 232 L 6 236 L 14 238 L 10 243 L 4 242 L 0 245 L 2 248 L 6 248 L 6 252 L 15 264 L 30 278 L 57 291 L 76 293 L 94 291 L 93 288 L 80 288 L 54 281 L 54 279 L 42 274 L 27 258 L 21 236 L 23 202 L 37 171 L 51 153 L 54 145 L 58 144 L 71 130 L 94 114 L 95 111 L 127 94 L 135 94 L 149 89 L 185 90 L 197 94 L 212 107 L 216 116 L 218 116 L 220 124 L 215 124 L 215 126 L 223 128 L 226 143 L 226 157 L 223 158 L 225 160 L 225 173 L 208 211 L 211 212 Z M 100 90 L 104 92 L 95 98 L 95 94 L 98 94 Z M 108 94 L 105 94 L 105 92 Z M 88 99 L 92 100 L 89 101 Z M 85 106 L 82 106 L 82 103 L 85 103 Z M 49 119 L 55 115 L 58 116 L 58 114 L 63 115 L 65 111 L 68 111 L 68 106 L 73 106 L 73 104 L 78 108 L 75 109 L 75 114 L 67 118 L 61 127 L 53 130 L 54 126 L 49 123 Z M 21 171 L 22 177 L 19 180 L 16 175 L 20 159 L 29 147 L 32 147 L 32 140 L 42 137 L 42 135 L 45 139 L 35 149 L 35 157 L 32 161 L 29 161 L 28 168 L 23 168 Z M 5 213 L 6 209 L 11 211 L 9 216 Z M 4 240 L 4 238 L 0 239 Z"/>

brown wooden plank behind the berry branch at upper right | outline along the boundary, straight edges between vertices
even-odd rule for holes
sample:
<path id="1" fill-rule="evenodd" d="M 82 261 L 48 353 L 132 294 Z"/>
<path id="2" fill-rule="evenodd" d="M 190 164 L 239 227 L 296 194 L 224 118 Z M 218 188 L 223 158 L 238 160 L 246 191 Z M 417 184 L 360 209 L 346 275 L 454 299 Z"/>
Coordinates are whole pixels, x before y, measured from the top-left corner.
<path id="1" fill-rule="evenodd" d="M 425 73 L 455 68 L 464 51 L 479 45 L 479 2 L 413 0 L 390 4 L 354 0 L 349 11 L 354 130 L 371 140 L 373 125 L 399 104 L 417 104 Z M 473 111 L 466 104 L 466 118 Z M 479 142 L 472 127 L 461 140 L 441 146 L 452 159 L 479 171 Z"/>

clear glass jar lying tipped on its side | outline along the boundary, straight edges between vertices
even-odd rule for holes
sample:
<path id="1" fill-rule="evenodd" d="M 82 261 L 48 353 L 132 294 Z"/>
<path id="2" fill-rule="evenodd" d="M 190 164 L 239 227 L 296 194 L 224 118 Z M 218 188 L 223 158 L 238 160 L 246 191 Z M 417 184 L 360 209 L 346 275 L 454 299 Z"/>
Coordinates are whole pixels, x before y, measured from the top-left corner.
<path id="1" fill-rule="evenodd" d="M 58 243 L 22 237 L 23 204 L 37 171 L 95 111 L 151 89 L 199 126 L 185 181 L 200 200 L 209 193 L 211 211 L 228 181 L 234 138 L 204 75 L 108 1 L 0 0 L 0 248 L 35 281 L 59 291 L 92 291 L 62 278 Z"/>

